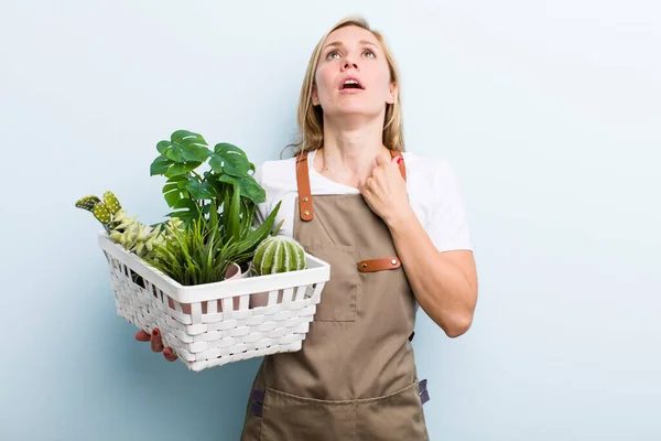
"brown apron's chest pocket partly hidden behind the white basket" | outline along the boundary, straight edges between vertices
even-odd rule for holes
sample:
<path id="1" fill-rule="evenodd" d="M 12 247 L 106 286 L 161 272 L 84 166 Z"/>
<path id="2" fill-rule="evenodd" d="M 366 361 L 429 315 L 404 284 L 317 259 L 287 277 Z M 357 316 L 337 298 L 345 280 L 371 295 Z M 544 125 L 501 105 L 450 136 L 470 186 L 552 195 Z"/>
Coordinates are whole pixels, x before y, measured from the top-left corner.
<path id="1" fill-rule="evenodd" d="M 305 250 L 330 265 L 330 279 L 322 291 L 314 320 L 319 322 L 355 322 L 360 277 L 350 245 L 310 245 Z"/>

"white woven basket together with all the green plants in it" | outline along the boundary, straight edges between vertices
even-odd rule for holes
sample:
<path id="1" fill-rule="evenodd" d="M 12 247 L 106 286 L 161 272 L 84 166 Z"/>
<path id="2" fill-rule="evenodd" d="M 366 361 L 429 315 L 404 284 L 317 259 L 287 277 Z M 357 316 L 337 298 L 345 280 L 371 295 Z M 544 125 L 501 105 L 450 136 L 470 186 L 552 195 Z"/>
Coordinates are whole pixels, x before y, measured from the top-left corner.
<path id="1" fill-rule="evenodd" d="M 118 314 L 147 332 L 159 327 L 164 345 L 195 372 L 299 351 L 329 279 L 328 263 L 277 236 L 280 203 L 253 225 L 266 192 L 241 149 L 219 143 L 210 150 L 186 130 L 156 149 L 150 174 L 167 178 L 166 220 L 148 226 L 129 217 L 111 192 L 76 203 L 104 225 L 98 241 Z M 203 165 L 209 170 L 199 171 Z M 290 256 L 285 265 L 278 244 Z"/>

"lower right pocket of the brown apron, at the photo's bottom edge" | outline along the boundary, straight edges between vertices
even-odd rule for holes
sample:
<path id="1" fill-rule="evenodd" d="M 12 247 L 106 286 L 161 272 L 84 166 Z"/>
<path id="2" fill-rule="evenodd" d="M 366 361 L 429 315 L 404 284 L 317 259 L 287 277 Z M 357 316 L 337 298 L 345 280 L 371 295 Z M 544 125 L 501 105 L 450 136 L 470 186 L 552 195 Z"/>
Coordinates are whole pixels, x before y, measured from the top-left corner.
<path id="1" fill-rule="evenodd" d="M 356 434 L 358 440 L 429 440 L 418 380 L 392 395 L 359 400 Z"/>

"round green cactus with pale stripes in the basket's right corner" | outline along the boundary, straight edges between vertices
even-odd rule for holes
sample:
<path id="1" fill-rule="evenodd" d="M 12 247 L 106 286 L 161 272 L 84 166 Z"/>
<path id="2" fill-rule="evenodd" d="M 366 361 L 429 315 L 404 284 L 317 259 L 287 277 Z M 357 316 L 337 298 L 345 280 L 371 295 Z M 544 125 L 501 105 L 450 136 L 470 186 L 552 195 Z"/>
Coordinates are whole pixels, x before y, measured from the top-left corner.
<path id="1" fill-rule="evenodd" d="M 254 250 L 252 260 L 258 275 L 274 275 L 305 269 L 305 252 L 291 237 L 271 236 Z"/>

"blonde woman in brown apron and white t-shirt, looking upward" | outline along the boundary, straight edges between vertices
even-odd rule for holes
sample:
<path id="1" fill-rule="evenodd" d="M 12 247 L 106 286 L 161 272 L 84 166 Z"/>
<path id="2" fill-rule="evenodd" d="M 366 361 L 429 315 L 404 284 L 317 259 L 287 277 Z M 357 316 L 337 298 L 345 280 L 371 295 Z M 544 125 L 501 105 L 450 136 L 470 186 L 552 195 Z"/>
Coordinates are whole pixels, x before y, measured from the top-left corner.
<path id="1" fill-rule="evenodd" d="M 337 23 L 315 47 L 299 126 L 294 158 L 258 168 L 260 214 L 282 201 L 281 234 L 332 276 L 303 348 L 264 357 L 241 440 L 429 439 L 415 312 L 456 337 L 477 301 L 455 176 L 443 160 L 404 152 L 395 63 L 362 19 Z"/>

